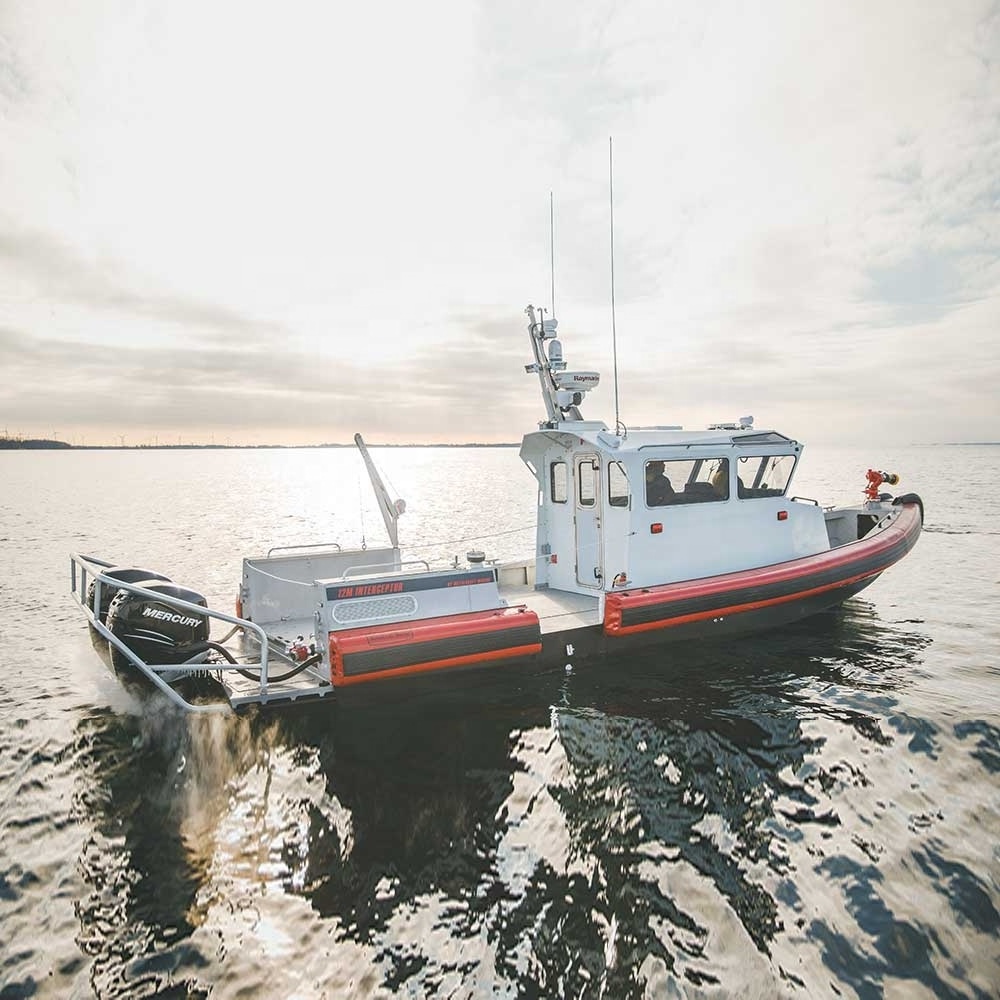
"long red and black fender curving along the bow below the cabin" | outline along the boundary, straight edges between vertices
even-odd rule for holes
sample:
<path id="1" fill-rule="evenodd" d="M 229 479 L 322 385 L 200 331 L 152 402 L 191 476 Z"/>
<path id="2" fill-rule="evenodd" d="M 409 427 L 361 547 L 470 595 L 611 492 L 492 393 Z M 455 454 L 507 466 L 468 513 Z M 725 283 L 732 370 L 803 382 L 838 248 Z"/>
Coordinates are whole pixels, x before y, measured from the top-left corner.
<path id="1" fill-rule="evenodd" d="M 921 516 L 907 504 L 874 537 L 774 566 L 609 593 L 604 633 L 631 635 L 728 617 L 835 592 L 878 576 L 916 544 Z"/>

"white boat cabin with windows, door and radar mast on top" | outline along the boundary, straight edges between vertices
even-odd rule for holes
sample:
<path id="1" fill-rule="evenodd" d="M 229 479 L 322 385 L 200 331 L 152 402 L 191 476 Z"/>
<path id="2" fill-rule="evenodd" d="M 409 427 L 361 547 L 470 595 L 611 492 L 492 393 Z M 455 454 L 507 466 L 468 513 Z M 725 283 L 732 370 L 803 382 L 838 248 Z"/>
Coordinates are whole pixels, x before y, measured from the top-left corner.
<path id="1" fill-rule="evenodd" d="M 690 580 L 830 548 L 823 510 L 792 502 L 802 445 L 752 418 L 615 434 L 583 420 L 593 372 L 565 372 L 552 321 L 531 330 L 548 419 L 521 458 L 538 483 L 535 586 L 580 594 Z M 571 386 L 567 390 L 566 386 Z"/>

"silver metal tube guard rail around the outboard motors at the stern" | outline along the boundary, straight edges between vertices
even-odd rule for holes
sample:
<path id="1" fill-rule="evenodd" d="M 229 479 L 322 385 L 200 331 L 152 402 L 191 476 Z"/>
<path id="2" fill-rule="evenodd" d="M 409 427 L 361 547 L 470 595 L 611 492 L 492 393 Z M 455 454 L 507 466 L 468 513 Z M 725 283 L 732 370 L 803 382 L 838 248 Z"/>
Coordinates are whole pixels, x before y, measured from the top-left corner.
<path id="1" fill-rule="evenodd" d="M 80 586 L 77 588 L 77 566 L 80 568 Z M 157 593 L 153 590 L 147 590 L 145 587 L 136 586 L 133 583 L 126 583 L 122 580 L 116 580 L 113 577 L 106 576 L 104 573 L 94 572 L 96 567 L 101 567 L 103 569 L 108 569 L 112 566 L 112 563 L 105 563 L 101 559 L 94 559 L 90 556 L 83 556 L 79 554 L 73 554 L 70 556 L 70 569 L 71 569 L 71 582 L 72 582 L 72 593 L 74 597 L 79 601 L 80 606 L 83 608 L 84 613 L 90 620 L 91 625 L 94 627 L 95 631 L 108 642 L 112 643 L 116 649 L 118 649 L 132 665 L 139 671 L 141 671 L 146 677 L 149 678 L 164 694 L 170 698 L 174 704 L 184 708 L 189 712 L 224 712 L 231 711 L 232 707 L 230 705 L 221 704 L 211 704 L 211 705 L 193 705 L 191 702 L 187 701 L 180 694 L 177 693 L 162 677 L 160 677 L 157 669 L 160 670 L 172 670 L 178 672 L 185 672 L 184 663 L 156 663 L 149 664 L 142 660 L 136 653 L 134 653 L 121 639 L 118 638 L 101 620 L 98 615 L 98 611 L 101 606 L 101 588 L 104 585 L 114 587 L 115 590 L 127 590 L 130 593 L 138 594 L 140 597 L 148 597 L 152 600 L 161 601 L 171 607 L 175 607 L 180 611 L 189 611 L 192 614 L 203 615 L 207 618 L 218 619 L 219 621 L 228 622 L 230 625 L 238 625 L 244 631 L 254 634 L 258 643 L 260 644 L 261 655 L 260 664 L 254 664 L 255 669 L 260 670 L 260 693 L 262 696 L 267 694 L 267 669 L 268 669 L 268 637 L 267 633 L 258 625 L 256 622 L 250 622 L 243 618 L 236 618 L 233 615 L 227 614 L 224 611 L 213 611 L 211 608 L 203 607 L 200 604 L 192 604 L 190 601 L 184 601 L 179 597 L 172 597 L 169 594 Z M 94 605 L 91 607 L 86 600 L 87 592 L 87 576 L 88 569 L 90 575 L 94 580 Z M 188 670 L 192 669 L 190 666 L 191 661 L 187 662 Z M 198 669 L 205 669 L 200 667 Z M 211 665 L 211 670 L 213 671 L 224 671 L 224 670 L 244 670 L 246 669 L 246 664 L 241 663 L 213 663 Z"/>

